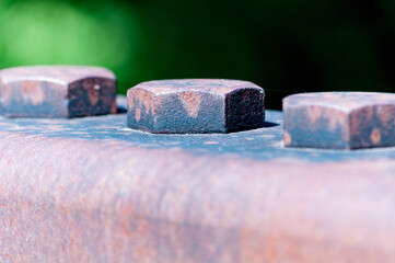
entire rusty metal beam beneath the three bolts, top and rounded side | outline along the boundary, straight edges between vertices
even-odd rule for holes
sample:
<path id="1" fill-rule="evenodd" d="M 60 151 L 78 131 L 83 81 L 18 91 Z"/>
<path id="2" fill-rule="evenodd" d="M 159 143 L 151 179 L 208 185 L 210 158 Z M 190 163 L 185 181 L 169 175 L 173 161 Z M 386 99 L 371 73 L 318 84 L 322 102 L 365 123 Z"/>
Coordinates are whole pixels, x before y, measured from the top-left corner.
<path id="1" fill-rule="evenodd" d="M 213 135 L 2 118 L 1 261 L 393 262 L 395 148 L 284 148 L 266 113 Z"/>

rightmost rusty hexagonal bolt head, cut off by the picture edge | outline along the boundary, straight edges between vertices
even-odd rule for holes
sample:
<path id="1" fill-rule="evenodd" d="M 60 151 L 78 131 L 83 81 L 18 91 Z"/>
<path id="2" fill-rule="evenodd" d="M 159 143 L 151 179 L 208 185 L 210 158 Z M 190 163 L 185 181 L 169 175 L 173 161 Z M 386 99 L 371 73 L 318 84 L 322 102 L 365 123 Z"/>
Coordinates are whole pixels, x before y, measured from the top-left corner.
<path id="1" fill-rule="evenodd" d="M 320 92 L 283 100 L 287 147 L 358 149 L 395 146 L 395 94 Z"/>

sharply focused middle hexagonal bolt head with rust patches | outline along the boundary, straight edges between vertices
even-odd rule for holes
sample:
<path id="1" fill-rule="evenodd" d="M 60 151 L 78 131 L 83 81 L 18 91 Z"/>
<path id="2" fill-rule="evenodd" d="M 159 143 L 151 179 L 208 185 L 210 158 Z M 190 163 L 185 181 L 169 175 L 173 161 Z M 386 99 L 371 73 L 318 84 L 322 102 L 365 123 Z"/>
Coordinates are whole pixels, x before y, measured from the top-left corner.
<path id="1" fill-rule="evenodd" d="M 129 89 L 127 98 L 128 126 L 150 133 L 229 133 L 265 121 L 265 92 L 247 81 L 149 81 Z"/>

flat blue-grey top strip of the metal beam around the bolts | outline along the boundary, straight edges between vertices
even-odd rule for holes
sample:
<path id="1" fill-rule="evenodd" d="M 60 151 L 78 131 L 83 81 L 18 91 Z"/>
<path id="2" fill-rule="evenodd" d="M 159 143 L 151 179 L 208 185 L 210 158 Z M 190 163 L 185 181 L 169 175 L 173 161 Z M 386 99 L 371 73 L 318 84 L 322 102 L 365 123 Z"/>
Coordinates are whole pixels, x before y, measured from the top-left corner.
<path id="1" fill-rule="evenodd" d="M 197 155 L 241 157 L 255 160 L 290 159 L 306 162 L 394 159 L 395 148 L 320 150 L 284 148 L 282 113 L 266 111 L 265 127 L 230 134 L 161 135 L 126 126 L 126 100 L 118 98 L 119 114 L 71 119 L 0 118 L 0 130 L 56 138 L 118 141 L 124 146 L 171 149 Z"/>

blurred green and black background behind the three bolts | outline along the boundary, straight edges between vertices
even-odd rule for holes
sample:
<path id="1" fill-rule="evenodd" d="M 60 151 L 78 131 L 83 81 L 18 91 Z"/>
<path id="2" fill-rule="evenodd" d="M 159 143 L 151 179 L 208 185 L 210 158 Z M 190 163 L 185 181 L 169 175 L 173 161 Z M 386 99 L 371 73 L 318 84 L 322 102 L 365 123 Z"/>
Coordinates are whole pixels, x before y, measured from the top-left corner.
<path id="1" fill-rule="evenodd" d="M 394 91 L 394 0 L 0 0 L 0 68 L 96 65 L 119 93 L 173 78 L 295 92 Z"/>

